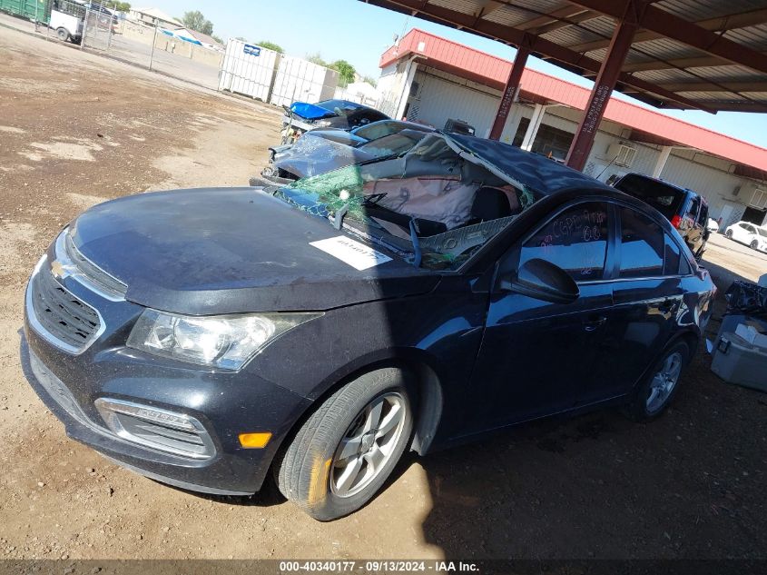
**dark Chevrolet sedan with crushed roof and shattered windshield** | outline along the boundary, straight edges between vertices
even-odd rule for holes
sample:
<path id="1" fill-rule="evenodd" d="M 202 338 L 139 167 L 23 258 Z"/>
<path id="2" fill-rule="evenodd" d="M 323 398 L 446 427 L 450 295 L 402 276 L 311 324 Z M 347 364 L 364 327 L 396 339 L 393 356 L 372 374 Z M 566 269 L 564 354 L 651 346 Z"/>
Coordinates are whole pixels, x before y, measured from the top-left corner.
<path id="1" fill-rule="evenodd" d="M 332 520 L 406 449 L 606 405 L 657 417 L 713 293 L 646 203 L 436 133 L 289 186 L 94 206 L 34 268 L 22 362 L 113 461 L 231 495 L 271 471 Z"/>

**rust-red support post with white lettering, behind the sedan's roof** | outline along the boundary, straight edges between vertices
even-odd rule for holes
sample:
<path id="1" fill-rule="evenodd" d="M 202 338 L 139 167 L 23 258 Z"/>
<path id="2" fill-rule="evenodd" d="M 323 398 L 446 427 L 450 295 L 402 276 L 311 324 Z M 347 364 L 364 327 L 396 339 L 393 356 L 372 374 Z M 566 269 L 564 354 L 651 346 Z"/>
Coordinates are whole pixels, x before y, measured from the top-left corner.
<path id="1" fill-rule="evenodd" d="M 634 6 L 631 6 L 634 8 Z M 628 14 L 628 13 L 627 13 Z M 636 32 L 636 20 L 623 19 L 615 24 L 613 39 L 610 41 L 610 48 L 607 51 L 605 61 L 599 69 L 596 76 L 594 88 L 588 98 L 583 118 L 575 131 L 575 138 L 570 144 L 570 150 L 567 152 L 565 164 L 575 170 L 583 170 L 586 158 L 591 152 L 591 146 L 594 145 L 594 136 L 605 115 L 605 108 L 610 101 L 610 94 L 621 75 L 621 68 L 624 65 L 626 54 L 631 48 L 631 42 Z"/>

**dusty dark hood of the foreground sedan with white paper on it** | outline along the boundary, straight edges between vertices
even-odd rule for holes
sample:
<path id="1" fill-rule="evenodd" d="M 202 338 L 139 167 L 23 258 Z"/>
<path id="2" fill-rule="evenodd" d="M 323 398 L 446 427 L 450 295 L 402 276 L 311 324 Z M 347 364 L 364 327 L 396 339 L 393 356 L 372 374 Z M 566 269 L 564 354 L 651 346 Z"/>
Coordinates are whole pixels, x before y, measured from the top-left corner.
<path id="1" fill-rule="evenodd" d="M 70 233 L 85 258 L 128 286 L 126 299 L 169 312 L 326 310 L 438 283 L 259 188 L 128 196 L 83 213 Z M 360 257 L 369 267 L 358 269 Z"/>

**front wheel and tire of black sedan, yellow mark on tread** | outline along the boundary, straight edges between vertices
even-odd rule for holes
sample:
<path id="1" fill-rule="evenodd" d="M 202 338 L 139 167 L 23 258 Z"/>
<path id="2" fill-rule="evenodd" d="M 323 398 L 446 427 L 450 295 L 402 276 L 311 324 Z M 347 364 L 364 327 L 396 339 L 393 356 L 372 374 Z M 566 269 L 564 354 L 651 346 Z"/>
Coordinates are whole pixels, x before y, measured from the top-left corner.
<path id="1" fill-rule="evenodd" d="M 388 479 L 413 429 L 407 373 L 349 382 L 311 414 L 275 462 L 282 494 L 316 520 L 359 510 Z"/>

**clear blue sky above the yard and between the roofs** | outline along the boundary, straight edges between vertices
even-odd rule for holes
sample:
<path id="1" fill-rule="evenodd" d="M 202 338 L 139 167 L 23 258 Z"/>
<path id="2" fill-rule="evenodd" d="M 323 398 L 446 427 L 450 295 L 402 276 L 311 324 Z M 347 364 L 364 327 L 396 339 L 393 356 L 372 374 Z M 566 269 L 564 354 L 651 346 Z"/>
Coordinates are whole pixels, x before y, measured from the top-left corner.
<path id="1" fill-rule="evenodd" d="M 481 38 L 416 17 L 401 15 L 359 2 L 359 0 L 147 0 L 169 15 L 200 10 L 213 23 L 213 34 L 224 41 L 242 36 L 253 43 L 270 41 L 289 55 L 319 53 L 326 61 L 346 60 L 362 75 L 379 77 L 380 55 L 392 45 L 394 36 L 420 28 L 477 50 L 513 60 L 515 50 L 487 38 Z M 585 78 L 562 70 L 537 58 L 529 58 L 527 67 L 575 84 L 591 87 Z M 615 94 L 628 102 L 649 108 L 636 100 Z M 654 108 L 651 108 L 654 109 Z M 767 114 L 664 110 L 663 114 L 698 124 L 767 148 Z"/>

